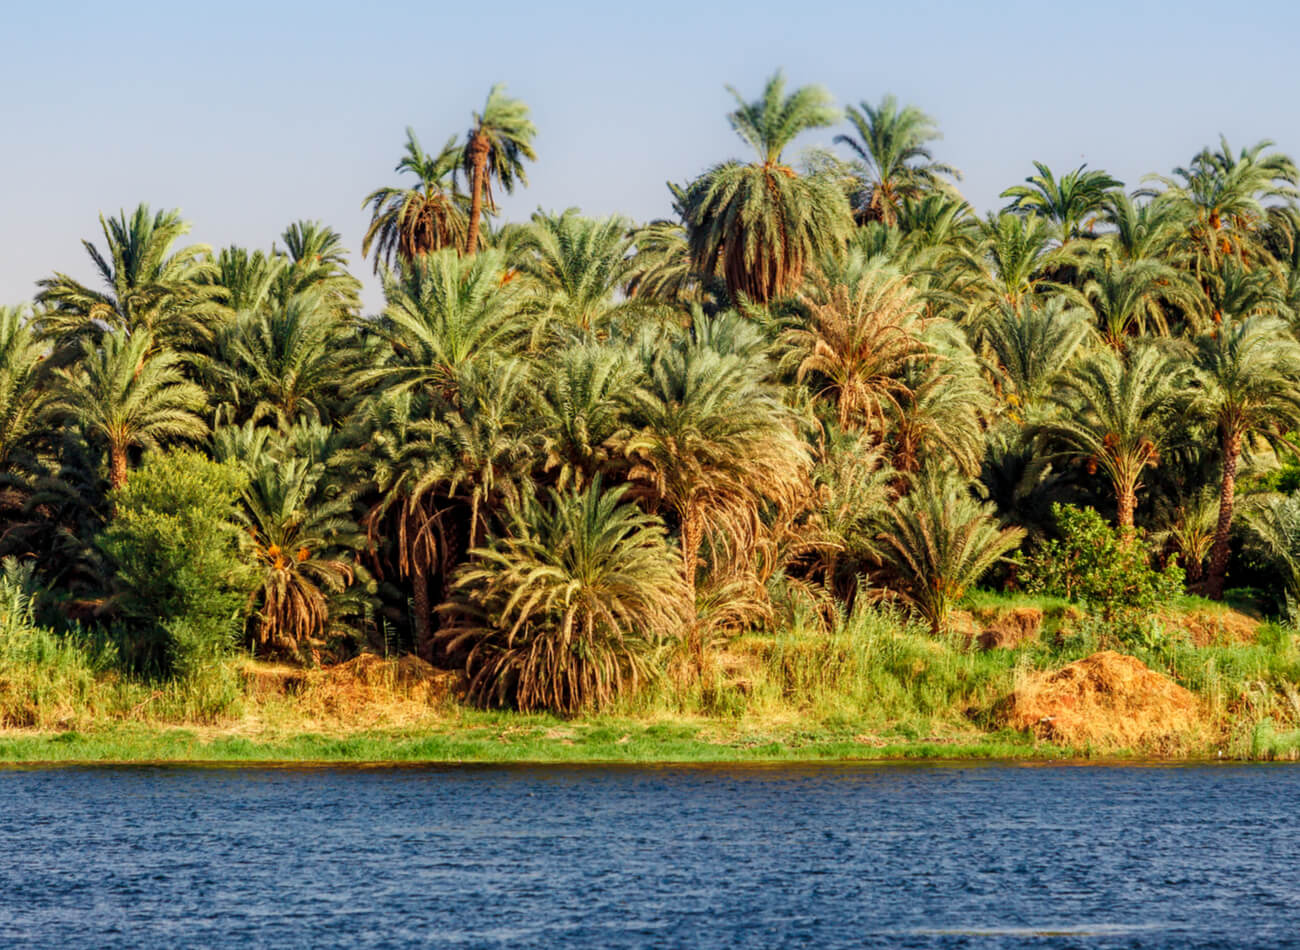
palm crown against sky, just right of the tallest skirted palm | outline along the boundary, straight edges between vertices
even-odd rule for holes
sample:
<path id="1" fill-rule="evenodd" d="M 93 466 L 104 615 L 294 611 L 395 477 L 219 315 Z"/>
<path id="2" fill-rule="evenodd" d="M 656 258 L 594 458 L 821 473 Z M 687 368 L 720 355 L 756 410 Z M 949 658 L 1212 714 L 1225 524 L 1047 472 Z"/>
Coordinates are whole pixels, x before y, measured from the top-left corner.
<path id="1" fill-rule="evenodd" d="M 928 143 L 941 139 L 935 120 L 915 105 L 898 108 L 898 100 L 885 96 L 880 105 L 861 103 L 846 109 L 858 138 L 836 135 L 836 144 L 848 146 L 861 169 L 857 214 L 864 221 L 898 224 L 904 201 L 916 200 L 927 191 L 949 187 L 944 177 L 961 179 L 961 172 L 936 162 Z"/>

